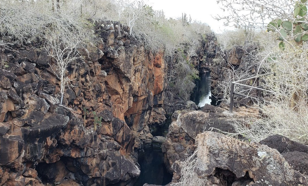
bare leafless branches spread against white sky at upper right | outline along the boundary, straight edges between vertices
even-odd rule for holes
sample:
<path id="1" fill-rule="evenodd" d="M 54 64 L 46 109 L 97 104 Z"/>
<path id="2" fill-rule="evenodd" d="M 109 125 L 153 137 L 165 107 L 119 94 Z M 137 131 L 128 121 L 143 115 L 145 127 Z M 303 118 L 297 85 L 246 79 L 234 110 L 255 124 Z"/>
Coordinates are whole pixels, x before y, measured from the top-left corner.
<path id="1" fill-rule="evenodd" d="M 217 15 L 217 20 L 224 20 L 228 26 L 249 26 L 266 28 L 276 18 L 294 20 L 294 0 L 218 0 L 224 15 Z"/>

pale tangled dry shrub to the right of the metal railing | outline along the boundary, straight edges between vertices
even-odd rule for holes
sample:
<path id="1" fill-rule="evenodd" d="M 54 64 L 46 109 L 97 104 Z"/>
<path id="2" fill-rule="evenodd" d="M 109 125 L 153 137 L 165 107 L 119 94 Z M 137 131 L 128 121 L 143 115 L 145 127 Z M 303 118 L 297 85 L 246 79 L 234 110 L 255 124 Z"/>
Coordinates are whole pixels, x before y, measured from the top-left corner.
<path id="1" fill-rule="evenodd" d="M 308 47 L 286 46 L 281 50 L 277 42 L 263 42 L 263 50 L 256 57 L 260 67 L 274 74 L 262 78 L 263 92 L 258 104 L 261 118 L 235 123 L 238 133 L 252 141 L 260 141 L 274 134 L 308 143 Z"/>

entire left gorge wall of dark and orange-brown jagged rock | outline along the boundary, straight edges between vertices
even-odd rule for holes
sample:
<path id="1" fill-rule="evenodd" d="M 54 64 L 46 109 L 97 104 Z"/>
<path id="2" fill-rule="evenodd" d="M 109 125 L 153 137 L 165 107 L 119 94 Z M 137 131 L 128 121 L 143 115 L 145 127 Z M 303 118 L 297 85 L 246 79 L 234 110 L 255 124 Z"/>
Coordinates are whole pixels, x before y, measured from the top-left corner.
<path id="1" fill-rule="evenodd" d="M 0 45 L 0 184 L 127 184 L 139 176 L 137 151 L 149 125 L 165 120 L 167 65 L 142 43 L 95 24 L 99 45 L 68 65 L 71 86 L 59 106 L 56 62 L 40 42 Z M 86 108 L 90 113 L 83 120 Z M 95 111 L 102 127 L 93 130 Z"/>

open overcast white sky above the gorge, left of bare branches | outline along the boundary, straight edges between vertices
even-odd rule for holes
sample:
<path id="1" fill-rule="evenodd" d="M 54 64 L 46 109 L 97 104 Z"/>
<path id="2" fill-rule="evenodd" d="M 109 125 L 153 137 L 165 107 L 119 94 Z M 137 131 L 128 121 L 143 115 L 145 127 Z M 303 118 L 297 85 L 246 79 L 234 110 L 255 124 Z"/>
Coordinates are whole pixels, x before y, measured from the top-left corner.
<path id="1" fill-rule="evenodd" d="M 182 13 L 192 17 L 192 20 L 201 21 L 209 24 L 211 29 L 219 32 L 224 29 L 233 29 L 223 26 L 223 22 L 217 22 L 215 17 L 222 14 L 222 10 L 217 5 L 216 0 L 148 0 L 147 4 L 154 10 L 164 10 L 166 18 L 182 17 Z"/>

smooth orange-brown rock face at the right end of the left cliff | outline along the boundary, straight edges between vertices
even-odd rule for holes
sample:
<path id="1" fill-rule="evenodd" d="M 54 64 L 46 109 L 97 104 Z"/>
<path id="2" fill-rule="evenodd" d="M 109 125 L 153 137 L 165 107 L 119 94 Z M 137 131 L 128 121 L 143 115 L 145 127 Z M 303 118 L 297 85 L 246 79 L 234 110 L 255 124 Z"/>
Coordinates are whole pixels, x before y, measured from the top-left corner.
<path id="1" fill-rule="evenodd" d="M 114 116 L 123 121 L 124 117 L 129 118 L 132 129 L 140 130 L 150 119 L 154 97 L 164 90 L 167 70 L 163 54 L 149 56 L 141 45 L 127 48 L 119 50 L 119 57 L 114 60 L 103 57 L 102 63 L 117 67 L 111 67 L 106 77 Z"/>

